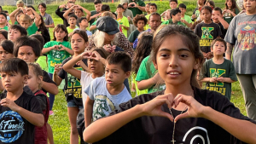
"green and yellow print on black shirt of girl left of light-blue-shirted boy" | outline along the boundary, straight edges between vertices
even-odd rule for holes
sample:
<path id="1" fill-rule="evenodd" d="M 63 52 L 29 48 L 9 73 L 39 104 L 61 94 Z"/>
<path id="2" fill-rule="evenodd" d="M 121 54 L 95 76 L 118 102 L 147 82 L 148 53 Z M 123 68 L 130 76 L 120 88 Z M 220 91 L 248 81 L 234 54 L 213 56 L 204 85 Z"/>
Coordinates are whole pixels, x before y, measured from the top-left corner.
<path id="1" fill-rule="evenodd" d="M 74 67 L 79 71 L 83 71 L 82 67 Z M 75 98 L 82 98 L 82 86 L 80 84 L 80 79 L 73 77 L 70 73 L 67 73 L 67 90 L 65 90 L 65 95 L 72 94 Z"/>

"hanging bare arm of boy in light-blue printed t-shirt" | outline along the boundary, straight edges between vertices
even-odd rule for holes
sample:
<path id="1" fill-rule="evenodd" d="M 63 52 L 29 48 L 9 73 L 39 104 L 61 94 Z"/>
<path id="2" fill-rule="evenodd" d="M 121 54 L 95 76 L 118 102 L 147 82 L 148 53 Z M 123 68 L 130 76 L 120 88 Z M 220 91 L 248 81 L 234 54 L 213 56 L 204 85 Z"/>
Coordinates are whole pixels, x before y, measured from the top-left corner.
<path id="1" fill-rule="evenodd" d="M 84 126 L 85 126 L 85 128 L 91 124 L 93 104 L 94 104 L 94 101 L 90 100 L 89 96 L 87 96 L 85 104 L 84 104 Z"/>

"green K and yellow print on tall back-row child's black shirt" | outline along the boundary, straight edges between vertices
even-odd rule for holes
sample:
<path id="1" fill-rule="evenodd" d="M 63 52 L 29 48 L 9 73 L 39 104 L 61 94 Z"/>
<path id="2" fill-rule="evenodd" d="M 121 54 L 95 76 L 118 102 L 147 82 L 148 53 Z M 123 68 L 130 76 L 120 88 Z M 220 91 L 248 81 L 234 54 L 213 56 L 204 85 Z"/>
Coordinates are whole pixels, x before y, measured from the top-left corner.
<path id="1" fill-rule="evenodd" d="M 201 40 L 200 40 L 200 46 L 211 46 L 212 40 L 213 40 L 213 32 L 214 27 L 201 27 Z"/>

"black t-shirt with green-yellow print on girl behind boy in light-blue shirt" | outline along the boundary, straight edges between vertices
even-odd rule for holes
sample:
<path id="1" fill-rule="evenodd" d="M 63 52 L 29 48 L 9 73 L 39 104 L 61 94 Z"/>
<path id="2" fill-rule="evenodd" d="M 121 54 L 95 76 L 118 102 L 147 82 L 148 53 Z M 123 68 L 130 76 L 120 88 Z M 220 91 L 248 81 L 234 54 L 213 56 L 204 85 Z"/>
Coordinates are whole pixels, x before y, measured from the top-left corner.
<path id="1" fill-rule="evenodd" d="M 71 60 L 72 57 L 68 57 L 67 59 L 63 60 L 62 66 L 68 61 Z M 87 60 L 83 59 L 84 64 L 87 66 Z M 74 68 L 84 71 L 81 66 L 75 65 Z M 67 101 L 74 100 L 79 107 L 83 107 L 82 101 L 82 86 L 80 84 L 80 79 L 75 78 L 70 73 L 67 73 L 63 69 L 58 73 L 58 76 L 62 79 L 65 78 L 65 85 L 64 85 L 64 94 L 66 96 Z"/>

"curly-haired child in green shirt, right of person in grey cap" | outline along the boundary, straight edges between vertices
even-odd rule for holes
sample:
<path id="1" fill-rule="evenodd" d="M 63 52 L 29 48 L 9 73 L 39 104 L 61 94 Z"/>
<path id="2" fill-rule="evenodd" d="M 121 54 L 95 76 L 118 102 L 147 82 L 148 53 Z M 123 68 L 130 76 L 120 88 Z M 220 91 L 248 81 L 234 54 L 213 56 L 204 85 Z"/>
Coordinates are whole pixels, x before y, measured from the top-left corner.
<path id="1" fill-rule="evenodd" d="M 128 40 L 131 43 L 131 46 L 133 46 L 133 42 L 137 39 L 137 36 L 143 32 L 143 27 L 145 24 L 148 23 L 148 19 L 143 14 L 137 14 L 133 18 L 133 25 L 137 26 L 137 30 L 131 32 L 131 35 L 128 37 Z"/>

